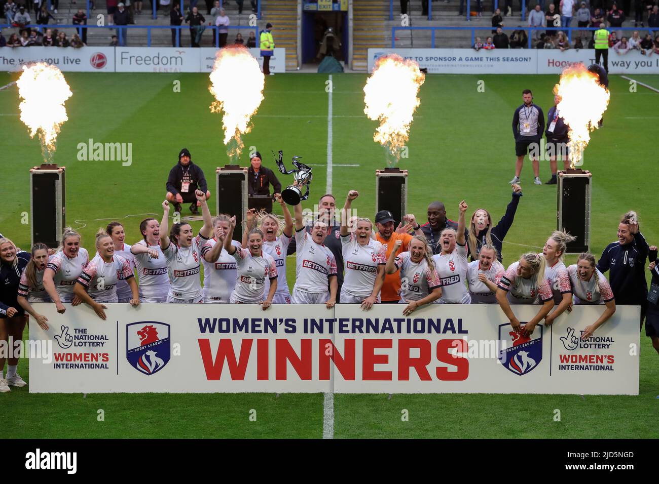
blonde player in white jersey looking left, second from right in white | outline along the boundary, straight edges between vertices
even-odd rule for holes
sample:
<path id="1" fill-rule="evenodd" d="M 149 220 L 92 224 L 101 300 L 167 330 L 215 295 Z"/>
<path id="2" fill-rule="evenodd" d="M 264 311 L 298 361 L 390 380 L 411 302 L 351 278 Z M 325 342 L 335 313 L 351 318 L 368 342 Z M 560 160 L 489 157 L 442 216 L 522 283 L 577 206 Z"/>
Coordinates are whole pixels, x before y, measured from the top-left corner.
<path id="1" fill-rule="evenodd" d="M 547 279 L 554 295 L 556 309 L 544 318 L 544 325 L 549 326 L 559 317 L 565 309 L 572 310 L 572 284 L 567 274 L 567 267 L 563 263 L 563 254 L 568 242 L 576 240 L 575 236 L 561 230 L 554 230 L 542 248 L 542 255 L 546 261 L 544 278 Z"/>

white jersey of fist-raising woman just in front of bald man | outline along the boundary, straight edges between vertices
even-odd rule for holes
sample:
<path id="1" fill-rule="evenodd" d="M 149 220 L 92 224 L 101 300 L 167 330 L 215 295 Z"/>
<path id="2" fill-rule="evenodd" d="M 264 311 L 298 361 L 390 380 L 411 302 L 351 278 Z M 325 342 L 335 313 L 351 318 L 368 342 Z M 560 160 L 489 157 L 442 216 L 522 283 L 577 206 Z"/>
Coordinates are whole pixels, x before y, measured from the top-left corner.
<path id="1" fill-rule="evenodd" d="M 465 285 L 467 279 L 467 244 L 455 244 L 451 254 L 432 256 L 437 273 L 442 282 L 442 297 L 439 304 L 469 304 L 471 296 Z"/>

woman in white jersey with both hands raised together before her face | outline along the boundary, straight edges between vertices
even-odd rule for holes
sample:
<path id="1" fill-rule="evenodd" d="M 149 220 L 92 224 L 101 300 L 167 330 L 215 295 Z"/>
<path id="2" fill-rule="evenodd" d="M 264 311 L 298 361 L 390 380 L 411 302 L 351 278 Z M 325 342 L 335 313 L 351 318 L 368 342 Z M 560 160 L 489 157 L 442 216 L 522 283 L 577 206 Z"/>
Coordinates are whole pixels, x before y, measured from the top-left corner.
<path id="1" fill-rule="evenodd" d="M 231 230 L 236 217 L 220 213 L 213 219 L 213 237 L 202 247 L 204 264 L 204 288 L 202 296 L 208 304 L 229 304 L 231 292 L 236 286 L 237 266 L 229 252 L 224 248 L 224 238 Z M 231 240 L 240 246 L 237 240 Z"/>

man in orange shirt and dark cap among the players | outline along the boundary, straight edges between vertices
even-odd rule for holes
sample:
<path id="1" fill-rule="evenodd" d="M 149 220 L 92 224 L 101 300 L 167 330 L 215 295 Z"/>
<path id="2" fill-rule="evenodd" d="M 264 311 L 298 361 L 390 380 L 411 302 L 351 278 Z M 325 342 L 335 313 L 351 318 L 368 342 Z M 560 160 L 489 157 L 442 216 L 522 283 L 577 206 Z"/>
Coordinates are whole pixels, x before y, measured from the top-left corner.
<path id="1" fill-rule="evenodd" d="M 405 225 L 399 223 L 397 229 L 393 229 L 393 215 L 388 210 L 380 210 L 376 213 L 375 216 L 375 225 L 378 228 L 378 233 L 376 234 L 376 240 L 386 247 L 387 259 L 391 255 L 393 250 L 393 244 L 396 240 L 402 240 L 396 255 L 401 252 L 406 252 L 408 244 L 413 238 L 413 235 L 409 234 L 410 230 L 414 230 L 415 234 L 423 237 L 424 234 L 421 231 L 421 226 L 416 223 L 416 217 L 414 215 L 405 215 L 403 217 Z M 382 284 L 382 290 L 380 290 L 380 299 L 383 303 L 397 303 L 401 300 L 401 278 L 398 273 L 387 274 L 384 277 L 384 284 Z"/>

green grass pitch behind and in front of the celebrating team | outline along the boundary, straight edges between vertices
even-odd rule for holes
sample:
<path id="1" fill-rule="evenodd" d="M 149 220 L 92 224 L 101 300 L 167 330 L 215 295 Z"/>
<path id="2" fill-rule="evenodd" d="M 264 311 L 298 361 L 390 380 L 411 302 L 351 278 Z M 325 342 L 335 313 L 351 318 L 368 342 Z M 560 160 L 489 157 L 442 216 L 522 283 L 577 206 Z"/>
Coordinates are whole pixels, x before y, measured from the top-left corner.
<path id="1" fill-rule="evenodd" d="M 138 240 L 145 213 L 161 216 L 165 180 L 184 146 L 200 165 L 214 191 L 214 169 L 227 162 L 221 118 L 210 113 L 206 74 L 65 74 L 73 96 L 69 121 L 57 140 L 55 162 L 67 167 L 67 223 L 79 228 L 82 245 L 92 250 L 96 230 L 109 219 L 121 220 L 127 242 Z M 639 81 L 659 86 L 659 76 Z M 16 74 L 0 74 L 0 86 Z M 304 157 L 314 168 L 311 207 L 325 193 L 328 94 L 325 75 L 277 75 L 266 89 L 252 132 L 243 138 L 256 146 L 266 166 L 270 150 Z M 173 82 L 181 81 L 181 92 Z M 484 80 L 485 92 L 477 82 Z M 376 123 L 363 114 L 364 74 L 333 75 L 333 193 L 339 205 L 350 189 L 362 196 L 353 204 L 374 215 L 374 171 L 384 166 L 384 151 L 372 140 Z M 552 106 L 558 76 L 431 75 L 420 89 L 421 105 L 411 128 L 409 211 L 425 221 L 428 202 L 442 200 L 455 219 L 465 199 L 469 213 L 486 207 L 497 218 L 509 201 L 513 176 L 511 119 L 521 91 L 533 90 L 545 113 Z M 592 134 L 584 168 L 592 171 L 592 251 L 599 255 L 616 238 L 619 216 L 639 213 L 650 244 L 659 242 L 656 216 L 656 122 L 659 94 L 612 76 L 611 103 L 604 127 Z M 0 91 L 4 173 L 0 232 L 22 248 L 30 244 L 28 169 L 41 163 L 38 141 L 30 140 L 18 117 L 15 86 Z M 80 142 L 132 142 L 132 165 L 119 161 L 78 161 Z M 244 151 L 242 162 L 246 165 Z M 359 165 L 341 167 L 337 165 Z M 541 178 L 549 177 L 541 162 Z M 522 173 L 524 197 L 503 245 L 504 265 L 531 248 L 540 248 L 556 228 L 556 187 L 534 186 L 527 160 Z M 280 178 L 286 182 L 285 177 Z M 215 198 L 211 200 L 215 205 Z M 184 212 L 187 207 L 184 207 Z M 125 217 L 125 215 L 136 215 Z M 184 213 L 185 215 L 185 213 Z M 102 220 L 98 220 L 102 219 Z M 194 223 L 198 228 L 200 223 Z M 514 244 L 513 244 L 514 242 Z M 519 244 L 519 245 L 516 245 Z M 573 263 L 574 256 L 566 257 Z M 295 265 L 289 259 L 289 282 Z M 19 373 L 26 380 L 28 362 Z M 173 381 L 172 385 L 176 385 Z M 648 417 L 658 412 L 659 356 L 641 336 L 639 396 L 384 394 L 335 396 L 335 437 L 536 437 L 656 438 Z M 322 436 L 322 394 L 29 394 L 13 389 L 0 396 L 11 416 L 12 437 L 301 437 Z M 103 409 L 105 421 L 97 421 Z M 249 420 L 256 410 L 255 422 Z M 401 421 L 401 410 L 409 421 Z M 514 410 L 513 410 L 514 409 Z M 554 421 L 554 410 L 561 421 Z M 514 412 L 514 417 L 511 415 Z M 156 417 L 158 419 L 156 421 Z M 165 418 L 162 418 L 165 417 Z"/>

